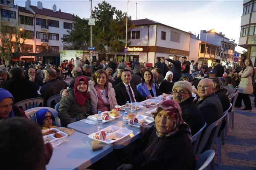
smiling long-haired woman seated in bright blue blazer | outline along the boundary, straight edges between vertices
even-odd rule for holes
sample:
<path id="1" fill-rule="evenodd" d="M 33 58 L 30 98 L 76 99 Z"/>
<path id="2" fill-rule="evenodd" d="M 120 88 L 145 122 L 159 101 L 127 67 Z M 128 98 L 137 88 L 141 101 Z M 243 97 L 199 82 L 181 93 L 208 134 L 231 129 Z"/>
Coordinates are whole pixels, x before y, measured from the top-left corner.
<path id="1" fill-rule="evenodd" d="M 156 86 L 153 83 L 153 74 L 150 70 L 143 72 L 142 83 L 137 86 L 137 91 L 145 97 L 148 97 L 148 95 L 151 95 L 151 97 L 157 96 Z"/>

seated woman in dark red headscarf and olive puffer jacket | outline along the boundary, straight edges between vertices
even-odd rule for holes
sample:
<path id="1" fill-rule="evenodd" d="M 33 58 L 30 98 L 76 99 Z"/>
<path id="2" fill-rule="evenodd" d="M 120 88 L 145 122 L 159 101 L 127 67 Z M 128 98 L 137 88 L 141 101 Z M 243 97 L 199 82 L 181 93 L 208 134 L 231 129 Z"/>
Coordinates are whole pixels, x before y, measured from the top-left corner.
<path id="1" fill-rule="evenodd" d="M 79 76 L 74 83 L 74 89 L 69 88 L 67 90 L 68 96 L 61 98 L 58 117 L 61 119 L 63 127 L 87 118 L 87 114 L 90 113 L 90 101 L 87 91 L 87 78 L 85 76 Z"/>

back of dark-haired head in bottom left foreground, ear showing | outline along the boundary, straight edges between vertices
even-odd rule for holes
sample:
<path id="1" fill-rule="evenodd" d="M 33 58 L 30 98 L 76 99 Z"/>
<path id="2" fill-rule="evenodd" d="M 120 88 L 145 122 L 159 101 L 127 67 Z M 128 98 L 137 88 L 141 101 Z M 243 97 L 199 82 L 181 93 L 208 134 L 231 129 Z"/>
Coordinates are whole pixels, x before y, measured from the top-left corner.
<path id="1" fill-rule="evenodd" d="M 39 126 L 25 118 L 0 120 L 2 170 L 45 170 L 52 144 L 44 144 Z"/>

